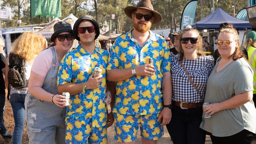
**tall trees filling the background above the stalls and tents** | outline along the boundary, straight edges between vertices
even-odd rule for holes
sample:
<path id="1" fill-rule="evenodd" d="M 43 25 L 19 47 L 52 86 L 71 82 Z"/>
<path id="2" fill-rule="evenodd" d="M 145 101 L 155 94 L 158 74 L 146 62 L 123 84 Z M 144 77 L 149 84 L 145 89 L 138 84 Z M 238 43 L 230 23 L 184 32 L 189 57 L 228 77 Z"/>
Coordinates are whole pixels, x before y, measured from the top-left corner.
<path id="1" fill-rule="evenodd" d="M 132 20 L 124 13 L 124 8 L 127 6 L 135 6 L 139 0 L 61 0 L 61 12 L 63 19 L 72 13 L 76 17 L 85 14 L 92 15 L 100 27 L 106 27 L 109 24 L 112 13 L 116 15 L 117 33 L 129 31 L 132 28 Z M 158 11 L 163 21 L 159 24 L 152 25 L 151 29 L 174 28 L 174 22 L 180 25 L 180 19 L 184 6 L 189 0 L 151 0 L 154 10 Z M 1 3 L 0 3 L 1 4 Z M 17 26 L 17 20 L 22 20 L 22 25 L 30 24 L 30 0 L 2 0 L 2 6 L 11 7 L 13 20 L 6 21 L 2 24 L 2 28 Z M 247 0 L 219 0 L 218 7 L 234 16 L 240 9 L 247 6 Z M 202 7 L 202 15 L 201 15 Z M 215 0 L 215 9 L 217 1 Z M 201 20 L 210 14 L 210 0 L 198 0 L 195 22 Z M 40 23 L 48 23 L 49 19 L 40 18 Z M 32 18 L 32 24 L 39 24 L 39 16 Z"/>

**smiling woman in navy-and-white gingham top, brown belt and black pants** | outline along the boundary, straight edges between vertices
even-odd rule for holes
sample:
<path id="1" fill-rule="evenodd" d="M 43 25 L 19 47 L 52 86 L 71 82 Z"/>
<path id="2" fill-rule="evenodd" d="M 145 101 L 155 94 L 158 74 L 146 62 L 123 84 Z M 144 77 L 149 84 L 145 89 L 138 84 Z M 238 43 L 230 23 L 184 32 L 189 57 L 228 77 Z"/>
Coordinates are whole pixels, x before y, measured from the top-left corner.
<path id="1" fill-rule="evenodd" d="M 206 83 L 213 69 L 213 57 L 202 53 L 198 30 L 185 28 L 180 33 L 180 54 L 171 53 L 172 120 L 167 125 L 174 144 L 204 144 L 206 132 L 200 129 Z M 186 74 L 186 68 L 192 85 Z"/>

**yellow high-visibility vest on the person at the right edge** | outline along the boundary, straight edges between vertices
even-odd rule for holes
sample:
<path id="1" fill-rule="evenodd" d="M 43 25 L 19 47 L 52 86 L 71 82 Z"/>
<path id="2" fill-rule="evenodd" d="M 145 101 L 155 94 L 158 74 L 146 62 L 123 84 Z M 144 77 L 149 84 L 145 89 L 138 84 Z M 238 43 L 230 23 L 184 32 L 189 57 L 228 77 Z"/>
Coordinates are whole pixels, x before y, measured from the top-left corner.
<path id="1" fill-rule="evenodd" d="M 256 48 L 249 46 L 248 63 L 253 70 L 253 94 L 256 94 Z"/>

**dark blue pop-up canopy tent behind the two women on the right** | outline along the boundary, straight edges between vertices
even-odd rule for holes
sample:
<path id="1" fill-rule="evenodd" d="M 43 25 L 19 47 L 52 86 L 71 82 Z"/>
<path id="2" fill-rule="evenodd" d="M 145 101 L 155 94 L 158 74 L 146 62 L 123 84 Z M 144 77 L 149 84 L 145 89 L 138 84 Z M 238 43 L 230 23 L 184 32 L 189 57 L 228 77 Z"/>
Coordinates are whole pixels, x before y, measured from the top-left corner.
<path id="1" fill-rule="evenodd" d="M 194 23 L 193 28 L 197 30 L 200 29 L 219 29 L 221 23 L 227 22 L 232 24 L 236 29 L 251 29 L 250 23 L 248 21 L 240 20 L 238 18 L 228 15 L 221 8 L 217 8 L 216 11 L 205 17 L 204 19 Z"/>

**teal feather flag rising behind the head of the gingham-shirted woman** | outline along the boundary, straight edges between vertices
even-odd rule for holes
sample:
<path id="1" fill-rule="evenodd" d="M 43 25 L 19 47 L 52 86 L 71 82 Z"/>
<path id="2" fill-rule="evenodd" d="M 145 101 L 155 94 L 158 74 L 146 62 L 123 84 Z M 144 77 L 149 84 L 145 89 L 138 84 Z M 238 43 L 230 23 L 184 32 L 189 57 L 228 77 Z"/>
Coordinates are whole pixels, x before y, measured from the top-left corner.
<path id="1" fill-rule="evenodd" d="M 195 20 L 195 13 L 197 9 L 197 0 L 191 0 L 187 3 L 182 12 L 182 18 L 180 22 L 180 28 L 192 25 Z"/>

